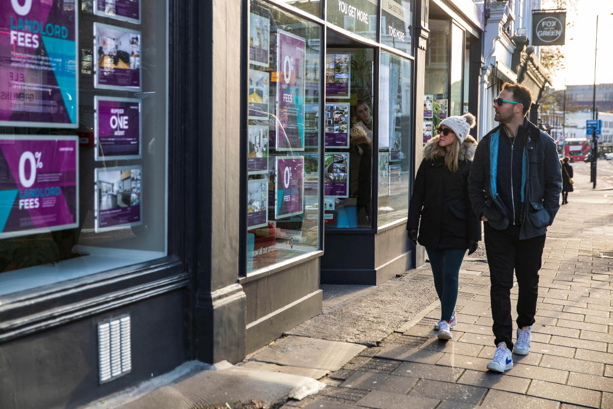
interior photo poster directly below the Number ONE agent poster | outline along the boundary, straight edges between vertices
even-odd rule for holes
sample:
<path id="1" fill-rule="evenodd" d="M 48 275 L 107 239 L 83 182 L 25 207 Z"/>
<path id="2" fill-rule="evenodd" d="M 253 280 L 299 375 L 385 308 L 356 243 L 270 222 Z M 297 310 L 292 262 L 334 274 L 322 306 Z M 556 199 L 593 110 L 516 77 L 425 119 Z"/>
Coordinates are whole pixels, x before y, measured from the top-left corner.
<path id="1" fill-rule="evenodd" d="M 142 168 L 97 168 L 94 174 L 94 231 L 108 231 L 142 224 Z"/>

